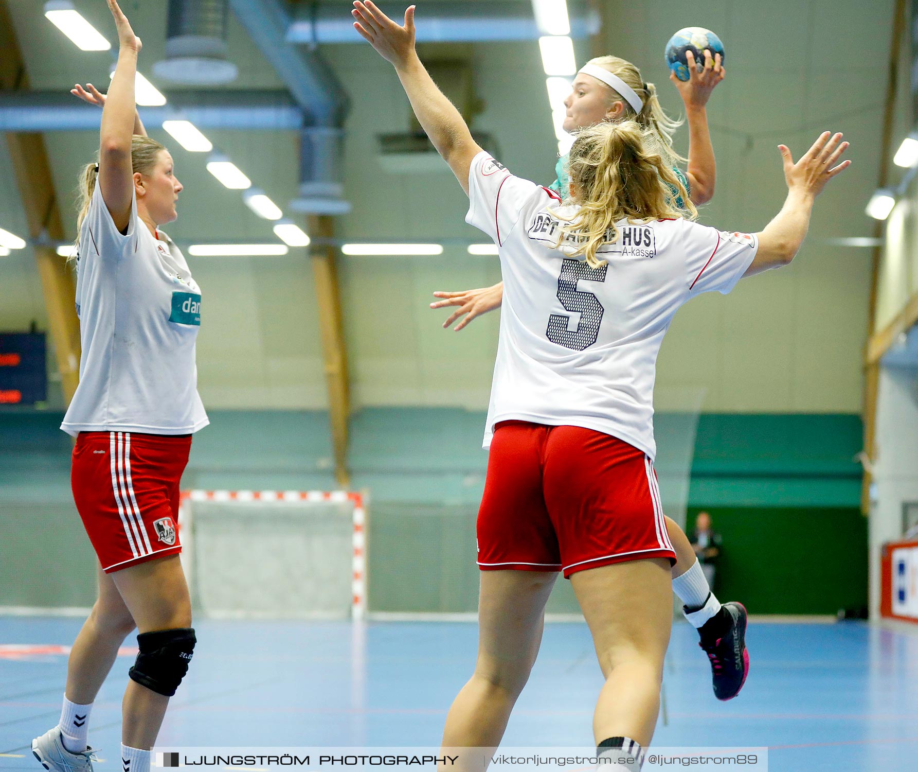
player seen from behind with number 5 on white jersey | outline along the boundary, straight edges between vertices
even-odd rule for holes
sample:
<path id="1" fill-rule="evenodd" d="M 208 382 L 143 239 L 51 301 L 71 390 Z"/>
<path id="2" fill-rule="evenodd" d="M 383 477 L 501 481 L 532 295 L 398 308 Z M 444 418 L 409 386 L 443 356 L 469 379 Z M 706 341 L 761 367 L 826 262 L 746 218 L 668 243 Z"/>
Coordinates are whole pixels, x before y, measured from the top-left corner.
<path id="1" fill-rule="evenodd" d="M 797 164 L 761 233 L 685 216 L 672 167 L 634 121 L 581 131 L 570 202 L 514 176 L 476 145 L 404 26 L 355 2 L 355 28 L 396 69 L 411 107 L 469 196 L 466 221 L 496 244 L 505 282 L 477 521 L 481 589 L 475 674 L 453 701 L 444 747 L 493 748 L 529 677 L 559 572 L 587 619 L 605 685 L 597 752 L 640 766 L 654 733 L 671 626 L 670 566 L 653 470 L 655 358 L 678 307 L 789 263 L 816 194 L 849 162 L 824 133 Z"/>

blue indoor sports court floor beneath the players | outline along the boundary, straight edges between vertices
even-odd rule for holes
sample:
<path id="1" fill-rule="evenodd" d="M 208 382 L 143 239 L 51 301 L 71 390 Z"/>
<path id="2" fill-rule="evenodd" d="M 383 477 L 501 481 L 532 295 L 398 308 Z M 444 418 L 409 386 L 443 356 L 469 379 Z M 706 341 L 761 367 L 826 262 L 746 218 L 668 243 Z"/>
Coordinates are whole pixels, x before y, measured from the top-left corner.
<path id="1" fill-rule="evenodd" d="M 81 623 L 0 617 L 0 770 L 40 772 L 28 744 L 57 722 L 66 672 L 62 653 L 27 655 L 9 644 L 69 645 Z M 195 660 L 161 744 L 436 745 L 476 652 L 476 625 L 461 622 L 205 621 L 196 630 Z M 752 623 L 749 679 L 721 703 L 694 630 L 677 624 L 667 722 L 661 717 L 654 744 L 767 745 L 772 772 L 918 770 L 916 633 L 862 622 Z M 103 758 L 118 748 L 132 659 L 118 659 L 95 703 L 89 739 Z M 505 744 L 589 747 L 599 687 L 586 626 L 547 625 Z"/>

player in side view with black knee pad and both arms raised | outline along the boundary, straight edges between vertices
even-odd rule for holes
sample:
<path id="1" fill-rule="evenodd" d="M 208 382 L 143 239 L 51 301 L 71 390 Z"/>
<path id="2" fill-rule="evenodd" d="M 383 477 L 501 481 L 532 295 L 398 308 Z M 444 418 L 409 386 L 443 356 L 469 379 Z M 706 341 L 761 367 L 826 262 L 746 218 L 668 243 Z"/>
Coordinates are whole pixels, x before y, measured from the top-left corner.
<path id="1" fill-rule="evenodd" d="M 108 6 L 120 44 L 108 95 L 92 85 L 73 90 L 104 107 L 98 163 L 82 180 L 80 384 L 62 423 L 76 437 L 73 498 L 98 558 L 99 592 L 73 643 L 61 721 L 32 741 L 33 755 L 54 772 L 92 769 L 93 702 L 135 628 L 140 653 L 129 669 L 115 764 L 149 772 L 196 642 L 176 519 L 191 435 L 207 426 L 196 388 L 201 293 L 159 230 L 174 221 L 182 185 L 172 156 L 146 136 L 136 113 L 140 39 L 116 0 Z"/>

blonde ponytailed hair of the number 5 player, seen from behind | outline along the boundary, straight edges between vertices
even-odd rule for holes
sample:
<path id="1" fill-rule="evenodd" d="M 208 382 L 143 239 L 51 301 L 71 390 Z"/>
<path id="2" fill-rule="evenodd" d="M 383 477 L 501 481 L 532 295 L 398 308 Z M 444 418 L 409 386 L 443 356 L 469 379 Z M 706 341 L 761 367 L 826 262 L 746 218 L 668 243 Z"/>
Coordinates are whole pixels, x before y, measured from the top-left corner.
<path id="1" fill-rule="evenodd" d="M 685 186 L 655 145 L 654 130 L 635 120 L 597 123 L 577 133 L 567 174 L 579 210 L 571 217 L 553 212 L 567 223 L 555 247 L 568 236 L 579 244 L 570 255 L 585 255 L 590 266 L 599 267 L 605 264 L 596 256 L 599 247 L 615 244 L 621 235 L 616 222 L 698 216 Z M 677 196 L 684 202 L 682 209 Z"/>

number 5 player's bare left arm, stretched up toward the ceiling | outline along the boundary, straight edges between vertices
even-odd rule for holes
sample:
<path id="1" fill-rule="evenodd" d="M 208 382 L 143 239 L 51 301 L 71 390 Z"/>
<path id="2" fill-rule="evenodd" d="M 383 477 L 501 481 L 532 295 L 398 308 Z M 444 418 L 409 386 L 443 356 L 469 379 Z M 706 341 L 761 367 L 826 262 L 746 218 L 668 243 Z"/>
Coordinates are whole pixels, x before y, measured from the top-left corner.
<path id="1" fill-rule="evenodd" d="M 467 194 L 469 166 L 481 148 L 472 139 L 459 110 L 443 96 L 420 63 L 414 48 L 415 6 L 405 11 L 404 26 L 387 17 L 370 0 L 357 0 L 353 6 L 354 28 L 396 68 L 421 127 Z"/>

